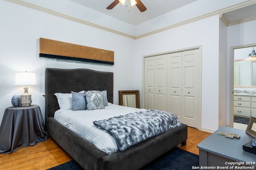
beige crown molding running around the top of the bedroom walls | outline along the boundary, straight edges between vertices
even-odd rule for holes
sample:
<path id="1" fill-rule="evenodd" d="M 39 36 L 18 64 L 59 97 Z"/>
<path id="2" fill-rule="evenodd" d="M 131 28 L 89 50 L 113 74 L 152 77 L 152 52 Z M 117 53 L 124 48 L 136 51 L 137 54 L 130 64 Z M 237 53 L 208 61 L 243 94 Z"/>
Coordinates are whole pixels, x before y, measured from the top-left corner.
<path id="1" fill-rule="evenodd" d="M 248 22 L 248 21 L 251 21 L 251 20 L 256 20 L 256 16 L 254 16 L 254 17 L 246 18 L 246 19 L 239 20 L 239 21 L 229 22 L 226 19 L 226 17 L 223 15 L 226 12 L 230 12 L 230 11 L 233 11 L 233 10 L 236 10 L 236 9 L 239 9 L 239 8 L 243 8 L 243 7 L 252 5 L 252 4 L 256 4 L 256 0 L 247 0 L 245 2 L 241 2 L 241 3 L 233 5 L 233 6 L 229 6 L 229 7 L 214 11 L 214 12 L 210 12 L 208 14 L 204 14 L 202 16 L 198 16 L 198 17 L 195 17 L 195 18 L 191 18 L 189 20 L 185 20 L 183 22 L 172 24 L 172 25 L 167 26 L 165 28 L 161 28 L 161 29 L 158 29 L 158 30 L 155 30 L 155 31 L 152 31 L 152 32 L 148 32 L 146 34 L 142 34 L 140 36 L 132 36 L 132 35 L 124 34 L 122 32 L 118 32 L 116 30 L 106 28 L 106 27 L 103 27 L 103 26 L 100 26 L 100 25 L 97 25 L 97 24 L 93 24 L 91 22 L 87 22 L 87 21 L 84 21 L 84 20 L 81 20 L 81 19 L 78 19 L 78 18 L 75 18 L 75 17 L 72 17 L 72 16 L 68 16 L 68 15 L 62 14 L 60 12 L 56 12 L 56 11 L 49 10 L 49 9 L 46 9 L 46 8 L 43 8 L 43 7 L 40 7 L 40 6 L 36 6 L 34 4 L 30 4 L 28 2 L 24 2 L 24 1 L 21 1 L 21 0 L 5 0 L 5 1 L 12 2 L 12 3 L 18 4 L 18 5 L 21 5 L 21 6 L 25 6 L 25 7 L 28 7 L 28 8 L 32 8 L 34 10 L 42 11 L 42 12 L 45 12 L 45 13 L 48 13 L 48 14 L 52 14 L 54 16 L 59 16 L 61 18 L 65 18 L 67 20 L 78 22 L 78 23 L 81 23 L 81 24 L 84 24 L 84 25 L 87 25 L 87 26 L 92 26 L 94 28 L 98 28 L 98 29 L 101 29 L 101 30 L 112 32 L 114 34 L 118 34 L 118 35 L 125 36 L 125 37 L 132 38 L 132 39 L 143 38 L 143 37 L 146 37 L 146 36 L 150 36 L 152 34 L 163 32 L 163 31 L 166 31 L 166 30 L 170 30 L 170 29 L 178 27 L 178 26 L 189 24 L 189 23 L 192 23 L 192 22 L 195 22 L 195 21 L 198 21 L 198 20 L 202 20 L 204 18 L 208 18 L 208 17 L 211 17 L 211 16 L 216 16 L 216 15 L 220 15 L 220 20 L 222 20 L 222 22 L 225 25 L 228 23 L 228 26 L 235 25 L 235 24 L 240 24 L 240 23 L 243 23 L 243 22 Z"/>

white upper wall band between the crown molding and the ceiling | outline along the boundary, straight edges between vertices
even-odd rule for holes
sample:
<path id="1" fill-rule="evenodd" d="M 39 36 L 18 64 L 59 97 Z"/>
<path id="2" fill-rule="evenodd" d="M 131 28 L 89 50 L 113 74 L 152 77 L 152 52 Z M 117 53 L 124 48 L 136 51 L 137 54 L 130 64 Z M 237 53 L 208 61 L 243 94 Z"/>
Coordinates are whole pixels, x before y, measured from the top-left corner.
<path id="1" fill-rule="evenodd" d="M 130 36 L 140 36 L 204 14 L 210 13 L 212 15 L 212 12 L 218 12 L 218 10 L 225 9 L 230 6 L 234 7 L 236 4 L 244 3 L 246 1 L 248 0 L 196 0 L 186 6 L 153 18 L 152 20 L 146 21 L 137 26 L 116 20 L 106 14 L 102 14 L 70 0 L 15 0 L 14 2 L 20 4 L 34 4 L 48 10 L 56 11 L 86 22 L 122 32 Z M 234 9 L 236 8 L 237 7 L 234 7 Z M 150 9 L 148 9 L 147 12 L 149 12 L 149 10 Z M 111 10 L 108 12 L 111 12 Z"/>

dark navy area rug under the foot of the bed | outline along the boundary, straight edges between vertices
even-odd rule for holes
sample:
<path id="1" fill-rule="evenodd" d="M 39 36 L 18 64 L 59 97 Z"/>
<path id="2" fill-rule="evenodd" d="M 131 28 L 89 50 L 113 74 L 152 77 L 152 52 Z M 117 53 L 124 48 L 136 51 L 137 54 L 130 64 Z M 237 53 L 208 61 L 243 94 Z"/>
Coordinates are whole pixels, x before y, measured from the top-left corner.
<path id="1" fill-rule="evenodd" d="M 199 156 L 180 148 L 173 148 L 160 158 L 144 166 L 141 170 L 191 170 L 199 166 Z M 83 168 L 71 160 L 48 170 L 82 170 Z"/>

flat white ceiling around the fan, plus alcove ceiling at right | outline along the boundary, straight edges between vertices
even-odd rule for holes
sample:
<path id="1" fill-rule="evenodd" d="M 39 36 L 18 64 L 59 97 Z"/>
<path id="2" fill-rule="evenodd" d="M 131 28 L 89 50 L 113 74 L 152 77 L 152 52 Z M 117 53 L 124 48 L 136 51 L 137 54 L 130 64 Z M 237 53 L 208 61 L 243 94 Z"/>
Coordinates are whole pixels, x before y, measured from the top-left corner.
<path id="1" fill-rule="evenodd" d="M 186 6 L 196 0 L 141 0 L 141 2 L 146 6 L 147 10 L 145 12 L 140 12 L 136 6 L 126 6 L 122 4 L 117 4 L 112 10 L 107 10 L 106 7 L 109 6 L 114 0 L 70 0 L 76 2 L 80 5 L 86 6 L 128 24 L 134 26 L 166 14 L 182 6 Z M 126 0 L 126 3 L 129 3 Z M 161 2 L 161 3 L 159 3 Z M 237 20 L 242 20 L 244 18 L 249 18 L 256 16 L 256 4 L 240 8 L 231 12 L 227 12 L 224 15 L 230 22 Z"/>

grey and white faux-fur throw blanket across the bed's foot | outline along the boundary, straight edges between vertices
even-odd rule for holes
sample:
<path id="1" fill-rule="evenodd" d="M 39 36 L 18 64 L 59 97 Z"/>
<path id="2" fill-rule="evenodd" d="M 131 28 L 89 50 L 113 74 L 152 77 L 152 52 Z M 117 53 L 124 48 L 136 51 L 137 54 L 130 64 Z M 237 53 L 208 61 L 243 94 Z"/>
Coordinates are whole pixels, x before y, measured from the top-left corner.
<path id="1" fill-rule="evenodd" d="M 116 140 L 118 149 L 130 146 L 162 134 L 171 128 L 181 126 L 176 115 L 159 110 L 146 110 L 94 121 L 94 125 L 106 130 Z"/>

